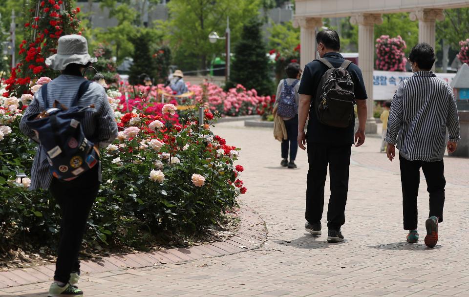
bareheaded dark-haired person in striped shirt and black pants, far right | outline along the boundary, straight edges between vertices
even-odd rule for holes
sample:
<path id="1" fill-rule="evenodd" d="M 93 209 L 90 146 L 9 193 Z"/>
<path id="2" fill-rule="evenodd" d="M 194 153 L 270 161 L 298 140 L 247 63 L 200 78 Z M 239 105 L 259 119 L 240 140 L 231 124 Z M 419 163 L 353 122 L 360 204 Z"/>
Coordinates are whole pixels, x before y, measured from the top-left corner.
<path id="1" fill-rule="evenodd" d="M 404 229 L 407 242 L 417 243 L 417 195 L 420 168 L 424 171 L 430 194 L 430 213 L 426 220 L 426 246 L 433 248 L 438 241 L 438 223 L 443 221 L 445 185 L 443 156 L 445 148 L 456 150 L 459 118 L 451 87 L 431 71 L 435 63 L 433 48 L 419 43 L 409 56 L 414 75 L 402 81 L 392 100 L 387 134 L 387 157 L 395 157 L 399 149 L 404 208 Z M 446 142 L 446 131 L 449 141 Z"/>

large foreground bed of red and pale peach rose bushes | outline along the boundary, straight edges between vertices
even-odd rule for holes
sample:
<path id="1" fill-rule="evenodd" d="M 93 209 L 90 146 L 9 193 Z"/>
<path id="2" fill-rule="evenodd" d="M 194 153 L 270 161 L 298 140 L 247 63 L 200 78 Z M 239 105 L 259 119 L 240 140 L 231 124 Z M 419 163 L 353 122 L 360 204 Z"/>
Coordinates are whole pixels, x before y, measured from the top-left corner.
<path id="1" fill-rule="evenodd" d="M 33 92 L 39 86 L 33 86 Z M 120 95 L 118 92 L 108 92 Z M 27 191 L 35 145 L 19 130 L 24 98 L 0 97 L 0 246 L 54 248 L 59 207 L 45 191 Z M 143 100 L 141 100 L 143 101 Z M 119 99 L 109 98 L 118 107 Z M 239 148 L 213 135 L 216 120 L 206 110 L 199 127 L 195 112 L 184 123 L 172 104 L 119 115 L 116 141 L 102 149 L 103 184 L 88 220 L 88 247 L 143 248 L 166 234 L 181 237 L 214 228 L 246 192 L 236 165 Z M 148 112 L 150 108 L 154 112 Z M 151 111 L 151 110 L 150 110 Z M 17 178 L 23 171 L 27 178 Z"/>

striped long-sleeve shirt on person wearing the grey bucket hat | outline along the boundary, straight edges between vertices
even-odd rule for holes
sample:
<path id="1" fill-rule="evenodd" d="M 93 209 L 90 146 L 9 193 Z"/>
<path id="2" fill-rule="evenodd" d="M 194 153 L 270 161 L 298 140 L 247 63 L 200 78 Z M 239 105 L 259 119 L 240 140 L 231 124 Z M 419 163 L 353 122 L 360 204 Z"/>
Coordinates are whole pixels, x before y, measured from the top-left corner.
<path id="1" fill-rule="evenodd" d="M 58 100 L 66 107 L 70 107 L 75 99 L 80 84 L 85 79 L 74 75 L 61 75 L 47 85 L 47 102 L 48 106 L 52 106 L 55 100 Z M 83 131 L 87 139 L 101 147 L 111 143 L 117 135 L 117 124 L 114 118 L 114 111 L 111 109 L 107 100 L 105 89 L 97 84 L 91 83 L 88 90 L 78 101 L 78 106 L 94 105 L 85 112 L 85 118 L 82 121 Z M 20 128 L 23 134 L 35 138 L 35 133 L 26 125 L 27 119 L 32 114 L 40 113 L 44 110 L 43 98 L 41 91 L 34 95 L 33 102 L 26 108 L 21 119 Z M 52 182 L 52 174 L 49 172 L 49 163 L 47 155 L 41 146 L 38 147 L 36 156 L 34 157 L 33 168 L 31 169 L 31 186 L 30 190 L 38 188 L 48 189 Z M 101 169 L 99 170 L 101 179 Z"/>

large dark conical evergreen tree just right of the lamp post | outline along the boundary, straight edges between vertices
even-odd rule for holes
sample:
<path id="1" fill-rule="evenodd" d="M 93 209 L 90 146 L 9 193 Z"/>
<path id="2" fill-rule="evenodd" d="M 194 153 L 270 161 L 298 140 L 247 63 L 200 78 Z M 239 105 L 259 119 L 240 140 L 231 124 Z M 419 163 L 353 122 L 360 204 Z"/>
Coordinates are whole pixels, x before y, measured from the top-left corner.
<path id="1" fill-rule="evenodd" d="M 247 89 L 256 89 L 259 95 L 272 94 L 273 83 L 270 79 L 269 58 L 266 55 L 261 25 L 256 19 L 244 25 L 241 40 L 235 46 L 236 59 L 227 87 L 241 84 Z"/>

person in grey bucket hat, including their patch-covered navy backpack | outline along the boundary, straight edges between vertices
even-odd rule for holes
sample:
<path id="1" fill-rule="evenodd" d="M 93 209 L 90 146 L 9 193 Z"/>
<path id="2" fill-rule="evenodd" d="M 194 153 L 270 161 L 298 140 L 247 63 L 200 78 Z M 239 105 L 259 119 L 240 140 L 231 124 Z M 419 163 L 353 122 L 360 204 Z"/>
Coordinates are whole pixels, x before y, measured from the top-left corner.
<path id="1" fill-rule="evenodd" d="M 117 135 L 114 112 L 103 86 L 83 78 L 96 62 L 80 35 L 59 39 L 46 64 L 62 75 L 43 85 L 21 119 L 21 131 L 40 143 L 31 170 L 30 190 L 48 189 L 62 212 L 61 239 L 49 297 L 81 297 L 78 254 L 86 220 L 101 182 L 98 146 Z"/>

